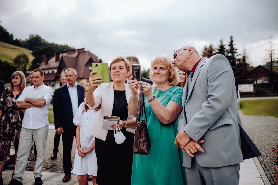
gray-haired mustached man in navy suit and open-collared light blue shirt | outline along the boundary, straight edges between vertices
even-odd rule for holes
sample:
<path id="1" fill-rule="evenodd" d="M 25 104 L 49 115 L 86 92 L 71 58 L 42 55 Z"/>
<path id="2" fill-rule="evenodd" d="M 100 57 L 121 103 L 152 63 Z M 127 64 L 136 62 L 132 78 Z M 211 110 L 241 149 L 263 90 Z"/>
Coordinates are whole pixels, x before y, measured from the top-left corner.
<path id="1" fill-rule="evenodd" d="M 85 89 L 77 85 L 77 72 L 74 68 L 65 70 L 67 84 L 58 88 L 53 96 L 54 124 L 57 134 L 62 134 L 63 141 L 63 168 L 65 177 L 63 182 L 68 182 L 71 178 L 71 149 L 76 132 L 73 123 L 74 115 L 79 105 L 84 100 Z"/>

